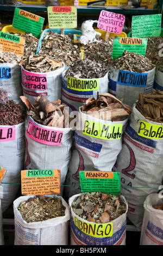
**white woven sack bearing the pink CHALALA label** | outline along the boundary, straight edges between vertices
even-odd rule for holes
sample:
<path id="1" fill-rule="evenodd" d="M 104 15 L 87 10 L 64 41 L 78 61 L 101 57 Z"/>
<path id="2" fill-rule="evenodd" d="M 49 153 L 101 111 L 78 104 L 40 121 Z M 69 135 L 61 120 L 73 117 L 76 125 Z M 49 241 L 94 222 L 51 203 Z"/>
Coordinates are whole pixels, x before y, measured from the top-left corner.
<path id="1" fill-rule="evenodd" d="M 43 132 L 40 139 L 37 139 L 39 135 L 36 136 L 36 133 L 34 136 L 31 135 L 34 127 L 40 130 L 40 133 Z M 54 138 L 52 140 L 51 135 Z M 40 125 L 28 116 L 25 121 L 25 136 L 24 169 L 59 169 L 62 194 L 71 157 L 72 129 Z"/>

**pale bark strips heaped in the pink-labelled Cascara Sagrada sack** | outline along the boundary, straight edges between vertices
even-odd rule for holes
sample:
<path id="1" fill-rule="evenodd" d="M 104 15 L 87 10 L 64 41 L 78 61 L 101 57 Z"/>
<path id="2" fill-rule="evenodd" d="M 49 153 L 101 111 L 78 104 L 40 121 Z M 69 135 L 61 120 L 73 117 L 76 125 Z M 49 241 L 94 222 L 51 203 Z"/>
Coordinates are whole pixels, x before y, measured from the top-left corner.
<path id="1" fill-rule="evenodd" d="M 63 63 L 58 60 L 48 57 L 48 56 L 28 56 L 26 59 L 22 60 L 20 65 L 23 66 L 24 69 L 30 72 L 50 72 L 56 69 L 59 69 L 63 66 Z"/>

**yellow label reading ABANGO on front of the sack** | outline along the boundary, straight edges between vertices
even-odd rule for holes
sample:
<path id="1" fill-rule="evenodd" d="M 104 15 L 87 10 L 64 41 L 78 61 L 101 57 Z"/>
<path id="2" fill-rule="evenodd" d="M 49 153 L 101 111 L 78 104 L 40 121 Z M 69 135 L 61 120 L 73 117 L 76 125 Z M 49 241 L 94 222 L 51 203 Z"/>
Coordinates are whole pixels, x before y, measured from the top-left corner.
<path id="1" fill-rule="evenodd" d="M 95 237 L 112 236 L 112 222 L 109 223 L 89 223 L 79 220 L 73 216 L 74 224 L 85 234 Z"/>

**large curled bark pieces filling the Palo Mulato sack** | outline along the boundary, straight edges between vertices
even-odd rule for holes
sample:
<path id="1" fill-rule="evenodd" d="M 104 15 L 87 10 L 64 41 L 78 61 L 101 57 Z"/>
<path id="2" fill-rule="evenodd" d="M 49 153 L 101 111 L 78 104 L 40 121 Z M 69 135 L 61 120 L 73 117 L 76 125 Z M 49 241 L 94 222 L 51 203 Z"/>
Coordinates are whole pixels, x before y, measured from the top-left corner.
<path id="1" fill-rule="evenodd" d="M 80 109 L 92 117 L 108 121 L 125 120 L 132 111 L 130 106 L 124 104 L 122 100 L 118 100 L 110 93 L 97 94 L 97 99 L 94 97 L 89 98 Z"/>

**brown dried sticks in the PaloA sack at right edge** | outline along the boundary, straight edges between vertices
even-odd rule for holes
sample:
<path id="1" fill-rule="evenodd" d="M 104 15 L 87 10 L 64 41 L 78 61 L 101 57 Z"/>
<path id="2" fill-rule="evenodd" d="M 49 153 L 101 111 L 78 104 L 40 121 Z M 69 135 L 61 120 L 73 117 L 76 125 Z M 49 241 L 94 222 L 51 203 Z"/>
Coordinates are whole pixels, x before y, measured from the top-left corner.
<path id="1" fill-rule="evenodd" d="M 153 93 L 139 94 L 135 107 L 148 120 L 163 122 L 163 92 L 153 89 Z"/>

